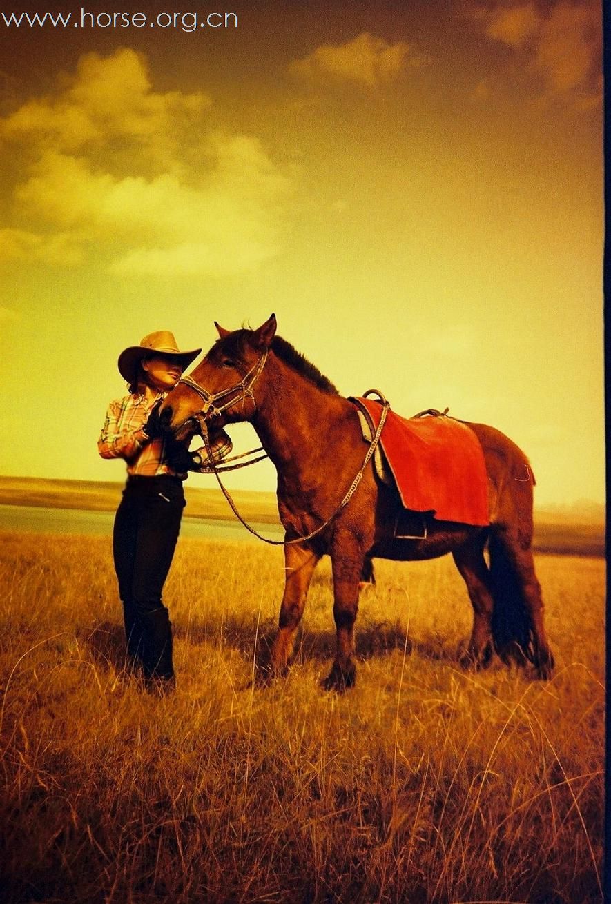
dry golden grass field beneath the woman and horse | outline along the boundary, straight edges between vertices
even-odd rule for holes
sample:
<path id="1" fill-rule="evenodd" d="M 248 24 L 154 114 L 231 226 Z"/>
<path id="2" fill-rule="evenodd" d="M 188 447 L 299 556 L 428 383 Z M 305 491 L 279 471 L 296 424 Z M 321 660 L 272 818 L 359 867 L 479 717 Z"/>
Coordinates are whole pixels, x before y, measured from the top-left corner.
<path id="1" fill-rule="evenodd" d="M 157 698 L 124 669 L 108 538 L 0 540 L 5 904 L 602 899 L 604 560 L 537 559 L 549 683 L 458 667 L 450 559 L 377 563 L 338 696 L 328 563 L 289 676 L 261 687 L 282 552 L 183 539 Z"/>

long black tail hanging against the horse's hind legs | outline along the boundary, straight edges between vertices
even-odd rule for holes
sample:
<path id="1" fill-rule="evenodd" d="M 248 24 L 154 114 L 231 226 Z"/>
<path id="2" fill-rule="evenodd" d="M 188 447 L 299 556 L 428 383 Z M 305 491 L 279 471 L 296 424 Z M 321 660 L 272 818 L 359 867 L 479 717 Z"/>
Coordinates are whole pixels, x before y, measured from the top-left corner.
<path id="1" fill-rule="evenodd" d="M 496 653 L 504 663 L 535 663 L 532 618 L 507 541 L 493 531 L 488 542 L 493 593 L 492 632 Z"/>

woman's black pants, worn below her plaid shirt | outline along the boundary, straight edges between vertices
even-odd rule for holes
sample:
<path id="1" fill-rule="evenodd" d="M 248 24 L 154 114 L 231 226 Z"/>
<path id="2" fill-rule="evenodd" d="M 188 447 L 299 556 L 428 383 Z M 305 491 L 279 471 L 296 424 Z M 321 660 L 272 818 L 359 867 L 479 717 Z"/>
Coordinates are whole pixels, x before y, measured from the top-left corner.
<path id="1" fill-rule="evenodd" d="M 115 516 L 113 553 L 127 652 L 146 677 L 171 678 L 172 626 L 162 602 L 184 508 L 178 477 L 129 477 Z"/>

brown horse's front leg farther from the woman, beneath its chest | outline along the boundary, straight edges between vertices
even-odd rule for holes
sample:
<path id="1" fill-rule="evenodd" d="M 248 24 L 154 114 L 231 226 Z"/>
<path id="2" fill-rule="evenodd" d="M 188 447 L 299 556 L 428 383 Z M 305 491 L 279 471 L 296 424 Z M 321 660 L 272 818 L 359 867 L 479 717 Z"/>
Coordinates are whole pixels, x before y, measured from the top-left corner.
<path id="1" fill-rule="evenodd" d="M 345 538 L 344 538 L 345 540 Z M 334 620 L 337 636 L 335 660 L 324 681 L 328 691 L 345 691 L 356 680 L 354 654 L 354 622 L 359 607 L 359 580 L 362 572 L 362 552 L 351 537 L 335 543 L 332 551 L 334 576 Z"/>

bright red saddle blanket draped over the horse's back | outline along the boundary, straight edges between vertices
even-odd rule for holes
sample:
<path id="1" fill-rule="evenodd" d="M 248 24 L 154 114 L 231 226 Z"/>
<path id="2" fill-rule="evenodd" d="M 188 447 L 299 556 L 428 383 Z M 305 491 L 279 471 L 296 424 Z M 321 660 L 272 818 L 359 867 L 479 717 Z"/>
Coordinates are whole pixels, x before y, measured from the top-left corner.
<path id="1" fill-rule="evenodd" d="M 353 401 L 377 428 L 381 403 Z M 380 441 L 406 509 L 439 521 L 490 523 L 484 452 L 466 424 L 447 415 L 401 418 L 389 410 Z"/>

